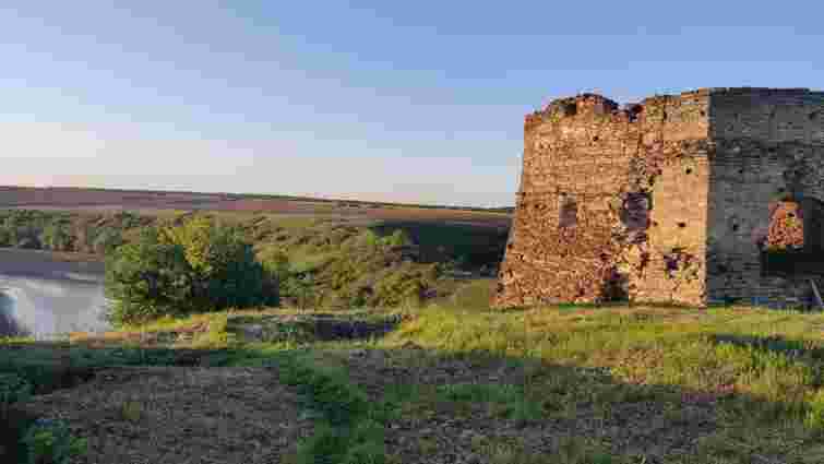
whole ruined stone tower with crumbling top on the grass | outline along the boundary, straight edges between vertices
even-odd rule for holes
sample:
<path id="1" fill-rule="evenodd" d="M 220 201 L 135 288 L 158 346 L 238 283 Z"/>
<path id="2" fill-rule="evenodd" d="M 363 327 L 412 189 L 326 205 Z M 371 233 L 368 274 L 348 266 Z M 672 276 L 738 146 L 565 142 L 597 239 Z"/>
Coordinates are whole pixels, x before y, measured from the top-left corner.
<path id="1" fill-rule="evenodd" d="M 809 298 L 823 176 L 822 92 L 554 100 L 524 123 L 494 305 Z"/>

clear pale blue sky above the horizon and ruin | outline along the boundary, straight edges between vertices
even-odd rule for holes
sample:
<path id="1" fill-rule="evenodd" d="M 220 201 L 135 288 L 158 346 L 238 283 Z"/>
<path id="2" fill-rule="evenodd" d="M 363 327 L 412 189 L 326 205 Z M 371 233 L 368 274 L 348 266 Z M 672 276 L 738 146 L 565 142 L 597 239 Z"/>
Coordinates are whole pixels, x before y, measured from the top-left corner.
<path id="1" fill-rule="evenodd" d="M 0 183 L 511 205 L 526 112 L 580 92 L 821 88 L 823 14 L 787 0 L 8 0 Z"/>

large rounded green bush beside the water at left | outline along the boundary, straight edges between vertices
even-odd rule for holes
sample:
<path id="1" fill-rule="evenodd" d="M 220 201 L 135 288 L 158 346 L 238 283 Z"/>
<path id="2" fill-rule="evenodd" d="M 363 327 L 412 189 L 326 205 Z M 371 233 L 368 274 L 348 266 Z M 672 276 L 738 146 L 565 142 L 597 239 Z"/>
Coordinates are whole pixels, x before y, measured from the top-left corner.
<path id="1" fill-rule="evenodd" d="M 106 264 L 106 294 L 115 324 L 278 302 L 276 283 L 242 234 L 203 218 L 147 227 L 136 242 L 115 249 Z"/>

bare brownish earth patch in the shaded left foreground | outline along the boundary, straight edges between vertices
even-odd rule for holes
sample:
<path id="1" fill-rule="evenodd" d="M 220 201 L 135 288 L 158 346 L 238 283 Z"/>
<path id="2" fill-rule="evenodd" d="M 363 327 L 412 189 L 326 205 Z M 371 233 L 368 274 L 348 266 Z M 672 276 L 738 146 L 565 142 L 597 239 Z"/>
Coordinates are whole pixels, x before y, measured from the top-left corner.
<path id="1" fill-rule="evenodd" d="M 270 368 L 105 369 L 32 409 L 88 440 L 77 464 L 280 463 L 311 423 L 277 378 Z"/>

